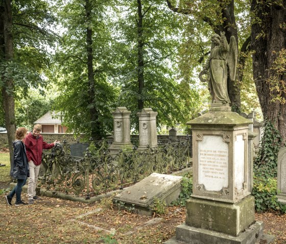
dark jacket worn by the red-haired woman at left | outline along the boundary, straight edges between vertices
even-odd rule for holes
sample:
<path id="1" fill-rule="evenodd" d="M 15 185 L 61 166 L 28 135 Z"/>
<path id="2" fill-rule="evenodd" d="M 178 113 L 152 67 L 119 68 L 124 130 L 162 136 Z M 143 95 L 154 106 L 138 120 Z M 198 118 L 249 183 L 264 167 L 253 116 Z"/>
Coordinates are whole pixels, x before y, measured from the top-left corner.
<path id="1" fill-rule="evenodd" d="M 25 180 L 29 177 L 29 164 L 26 154 L 25 145 L 20 140 L 13 142 L 14 154 L 13 154 L 13 168 L 10 171 L 10 175 L 14 179 Z"/>

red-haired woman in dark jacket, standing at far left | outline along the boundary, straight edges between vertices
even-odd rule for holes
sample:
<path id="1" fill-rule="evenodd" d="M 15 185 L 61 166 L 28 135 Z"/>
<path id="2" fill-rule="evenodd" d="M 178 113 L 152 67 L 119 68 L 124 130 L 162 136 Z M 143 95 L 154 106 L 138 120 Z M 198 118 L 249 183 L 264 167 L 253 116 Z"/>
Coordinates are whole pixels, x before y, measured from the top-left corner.
<path id="1" fill-rule="evenodd" d="M 26 154 L 25 144 L 23 139 L 26 138 L 27 129 L 20 127 L 16 130 L 16 140 L 13 142 L 14 154 L 13 154 L 13 167 L 11 169 L 10 175 L 17 179 L 17 185 L 12 189 L 10 194 L 5 196 L 6 202 L 12 205 L 12 198 L 16 194 L 15 206 L 27 205 L 21 200 L 22 186 L 26 184 L 27 177 L 29 177 L 29 164 Z"/>

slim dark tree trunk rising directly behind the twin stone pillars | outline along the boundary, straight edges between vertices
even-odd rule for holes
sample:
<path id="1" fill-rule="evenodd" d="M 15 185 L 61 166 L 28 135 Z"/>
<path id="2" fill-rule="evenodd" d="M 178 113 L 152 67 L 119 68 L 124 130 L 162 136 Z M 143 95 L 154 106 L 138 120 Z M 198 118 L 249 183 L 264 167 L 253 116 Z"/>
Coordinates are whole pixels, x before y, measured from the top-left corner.
<path id="1" fill-rule="evenodd" d="M 144 88 L 144 57 L 143 57 L 143 46 L 144 42 L 142 40 L 142 4 L 141 0 L 137 0 L 138 7 L 138 22 L 137 22 L 137 78 L 138 78 L 138 110 L 142 110 L 144 108 L 144 100 L 142 98 L 142 90 Z"/>

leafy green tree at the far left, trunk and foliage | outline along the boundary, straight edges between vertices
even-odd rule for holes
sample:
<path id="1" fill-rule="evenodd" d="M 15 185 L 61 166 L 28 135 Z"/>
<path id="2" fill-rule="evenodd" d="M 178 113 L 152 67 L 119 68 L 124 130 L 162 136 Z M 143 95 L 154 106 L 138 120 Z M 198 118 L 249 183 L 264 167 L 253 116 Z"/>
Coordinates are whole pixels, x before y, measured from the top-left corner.
<path id="1" fill-rule="evenodd" d="M 29 87 L 43 85 L 43 70 L 49 60 L 53 21 L 45 1 L 2 0 L 0 8 L 0 75 L 1 105 L 8 132 L 10 161 L 14 139 L 15 100 L 27 94 Z"/>

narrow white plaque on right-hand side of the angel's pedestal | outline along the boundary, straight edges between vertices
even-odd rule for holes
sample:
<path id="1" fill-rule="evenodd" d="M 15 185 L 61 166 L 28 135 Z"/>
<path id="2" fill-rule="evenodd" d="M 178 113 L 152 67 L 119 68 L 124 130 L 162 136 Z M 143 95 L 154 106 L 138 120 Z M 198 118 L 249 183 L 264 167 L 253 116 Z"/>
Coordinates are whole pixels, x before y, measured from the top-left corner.
<path id="1" fill-rule="evenodd" d="M 244 183 L 244 140 L 243 135 L 237 135 L 234 142 L 234 186 L 237 190 L 243 188 Z"/>

